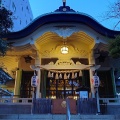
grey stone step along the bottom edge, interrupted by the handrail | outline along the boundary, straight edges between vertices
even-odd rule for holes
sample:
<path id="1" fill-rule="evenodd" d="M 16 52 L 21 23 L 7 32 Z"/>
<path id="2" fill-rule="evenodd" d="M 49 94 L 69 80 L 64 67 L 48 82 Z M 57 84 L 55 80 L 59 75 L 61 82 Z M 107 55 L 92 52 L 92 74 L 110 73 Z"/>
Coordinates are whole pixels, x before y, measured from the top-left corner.
<path id="1" fill-rule="evenodd" d="M 0 120 L 66 120 L 66 115 L 11 114 L 0 115 Z M 71 115 L 71 120 L 120 120 L 120 115 Z"/>

